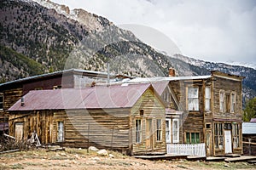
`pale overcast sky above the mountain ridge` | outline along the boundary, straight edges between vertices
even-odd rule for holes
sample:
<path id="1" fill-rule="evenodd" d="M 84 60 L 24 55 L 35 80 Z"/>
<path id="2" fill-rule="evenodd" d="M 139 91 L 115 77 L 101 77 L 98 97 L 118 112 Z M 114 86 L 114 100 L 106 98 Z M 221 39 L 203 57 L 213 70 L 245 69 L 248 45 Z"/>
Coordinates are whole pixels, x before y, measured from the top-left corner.
<path id="1" fill-rule="evenodd" d="M 256 64 L 256 0 L 52 1 L 84 8 L 117 26 L 151 27 L 189 57 Z"/>

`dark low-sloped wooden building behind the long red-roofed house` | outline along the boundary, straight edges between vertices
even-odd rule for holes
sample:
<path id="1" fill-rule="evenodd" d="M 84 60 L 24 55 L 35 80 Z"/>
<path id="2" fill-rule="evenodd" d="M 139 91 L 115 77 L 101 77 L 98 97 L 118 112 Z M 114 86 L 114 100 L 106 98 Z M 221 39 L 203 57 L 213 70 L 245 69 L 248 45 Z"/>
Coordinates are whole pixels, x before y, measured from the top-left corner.
<path id="1" fill-rule="evenodd" d="M 110 82 L 116 82 L 123 78 L 127 77 L 113 74 L 109 76 Z M 106 72 L 70 69 L 1 83 L 0 122 L 8 122 L 9 107 L 30 90 L 85 88 L 90 86 L 92 82 L 106 83 L 107 79 L 108 73 Z"/>

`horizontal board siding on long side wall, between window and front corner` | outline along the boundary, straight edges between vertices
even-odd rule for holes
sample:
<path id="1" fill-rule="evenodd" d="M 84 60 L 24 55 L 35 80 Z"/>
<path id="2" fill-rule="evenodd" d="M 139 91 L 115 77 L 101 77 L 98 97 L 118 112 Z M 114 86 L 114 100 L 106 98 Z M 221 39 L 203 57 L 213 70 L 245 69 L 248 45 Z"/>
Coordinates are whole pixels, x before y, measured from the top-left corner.
<path id="1" fill-rule="evenodd" d="M 129 114 L 128 109 L 67 111 L 65 143 L 125 150 L 129 142 Z"/>

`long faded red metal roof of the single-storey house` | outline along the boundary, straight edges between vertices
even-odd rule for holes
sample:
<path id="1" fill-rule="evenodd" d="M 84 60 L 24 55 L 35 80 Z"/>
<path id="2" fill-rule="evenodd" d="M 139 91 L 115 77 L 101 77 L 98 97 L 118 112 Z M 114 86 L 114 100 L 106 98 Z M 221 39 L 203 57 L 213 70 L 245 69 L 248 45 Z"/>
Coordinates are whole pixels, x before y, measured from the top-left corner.
<path id="1" fill-rule="evenodd" d="M 96 86 L 94 88 L 63 88 L 34 90 L 26 94 L 9 111 L 36 111 L 62 109 L 129 108 L 150 87 L 149 83 L 127 86 Z"/>

